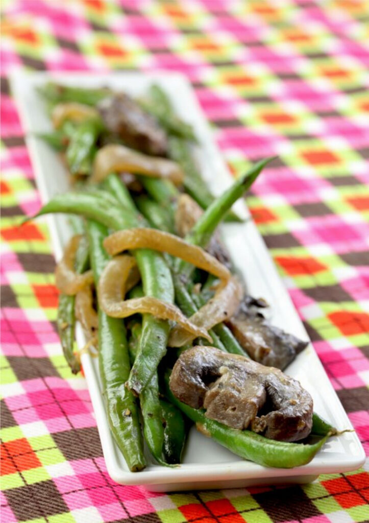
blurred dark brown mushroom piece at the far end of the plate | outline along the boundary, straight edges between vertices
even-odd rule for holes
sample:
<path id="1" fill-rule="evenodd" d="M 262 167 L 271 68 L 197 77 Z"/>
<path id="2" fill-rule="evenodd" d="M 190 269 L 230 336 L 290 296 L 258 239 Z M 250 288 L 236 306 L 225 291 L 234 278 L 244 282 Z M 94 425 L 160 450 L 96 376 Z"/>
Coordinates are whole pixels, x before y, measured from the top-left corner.
<path id="1" fill-rule="evenodd" d="M 102 100 L 98 108 L 107 129 L 118 134 L 127 145 L 146 154 L 166 155 L 166 133 L 133 98 L 117 94 Z"/>

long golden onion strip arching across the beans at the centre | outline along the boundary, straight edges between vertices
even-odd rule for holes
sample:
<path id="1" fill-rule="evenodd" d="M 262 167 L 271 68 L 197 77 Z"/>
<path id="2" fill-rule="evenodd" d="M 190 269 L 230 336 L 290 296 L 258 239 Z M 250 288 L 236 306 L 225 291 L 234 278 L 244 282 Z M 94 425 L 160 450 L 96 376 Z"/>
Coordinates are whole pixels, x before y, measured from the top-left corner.
<path id="1" fill-rule="evenodd" d="M 206 253 L 201 247 L 190 245 L 174 234 L 156 229 L 143 227 L 117 231 L 105 238 L 103 246 L 111 255 L 126 249 L 141 248 L 171 254 L 219 278 L 220 287 L 224 287 L 231 276 L 229 270 L 220 261 Z"/>

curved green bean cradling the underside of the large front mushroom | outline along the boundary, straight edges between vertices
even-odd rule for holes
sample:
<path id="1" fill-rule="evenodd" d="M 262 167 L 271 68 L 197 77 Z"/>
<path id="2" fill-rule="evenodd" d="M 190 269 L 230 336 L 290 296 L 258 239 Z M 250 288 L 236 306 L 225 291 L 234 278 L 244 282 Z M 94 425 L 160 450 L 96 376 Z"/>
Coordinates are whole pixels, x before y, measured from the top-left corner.
<path id="1" fill-rule="evenodd" d="M 205 416 L 203 410 L 197 410 L 180 402 L 172 394 L 168 377 L 166 377 L 166 394 L 171 403 L 180 408 L 195 424 L 198 430 L 210 436 L 217 443 L 238 454 L 241 458 L 254 461 L 264 467 L 291 469 L 309 463 L 325 444 L 331 433 L 321 438 L 313 445 L 302 443 L 287 443 L 265 438 L 250 430 L 238 430 L 227 427 Z"/>

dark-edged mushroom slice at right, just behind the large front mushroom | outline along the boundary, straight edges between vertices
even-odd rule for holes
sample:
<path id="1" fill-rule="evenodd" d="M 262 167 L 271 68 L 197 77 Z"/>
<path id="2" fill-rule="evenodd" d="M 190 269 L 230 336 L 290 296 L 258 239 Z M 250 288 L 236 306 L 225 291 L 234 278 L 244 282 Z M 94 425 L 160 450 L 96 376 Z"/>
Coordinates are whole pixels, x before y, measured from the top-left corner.
<path id="1" fill-rule="evenodd" d="M 283 370 L 308 342 L 271 325 L 260 312 L 264 306 L 262 301 L 246 296 L 227 325 L 253 360 Z"/>

